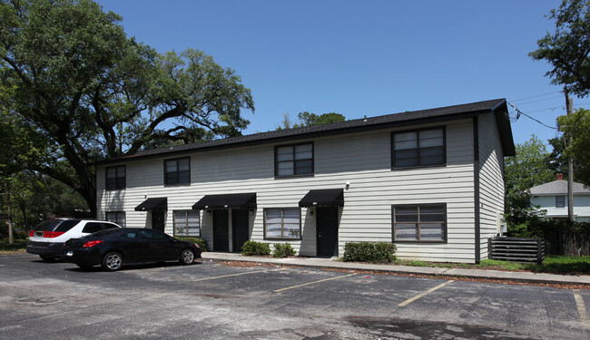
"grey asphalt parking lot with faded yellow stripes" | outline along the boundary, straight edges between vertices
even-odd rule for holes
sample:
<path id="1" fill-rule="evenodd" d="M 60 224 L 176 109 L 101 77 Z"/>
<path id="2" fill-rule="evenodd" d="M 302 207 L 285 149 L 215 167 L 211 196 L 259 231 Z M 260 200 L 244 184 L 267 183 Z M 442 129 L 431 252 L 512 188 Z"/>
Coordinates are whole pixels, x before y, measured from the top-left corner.
<path id="1" fill-rule="evenodd" d="M 5 339 L 583 339 L 590 290 L 202 261 L 83 271 L 0 256 Z"/>

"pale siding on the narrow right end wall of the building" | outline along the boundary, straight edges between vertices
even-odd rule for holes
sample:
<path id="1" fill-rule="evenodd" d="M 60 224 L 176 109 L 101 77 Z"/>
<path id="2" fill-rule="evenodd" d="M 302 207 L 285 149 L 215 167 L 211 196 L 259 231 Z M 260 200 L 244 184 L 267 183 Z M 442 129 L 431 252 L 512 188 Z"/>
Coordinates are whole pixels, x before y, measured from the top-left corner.
<path id="1" fill-rule="evenodd" d="M 504 213 L 504 156 L 496 118 L 480 115 L 479 125 L 479 225 L 481 259 L 487 258 L 487 238 L 497 234 L 497 214 Z"/>

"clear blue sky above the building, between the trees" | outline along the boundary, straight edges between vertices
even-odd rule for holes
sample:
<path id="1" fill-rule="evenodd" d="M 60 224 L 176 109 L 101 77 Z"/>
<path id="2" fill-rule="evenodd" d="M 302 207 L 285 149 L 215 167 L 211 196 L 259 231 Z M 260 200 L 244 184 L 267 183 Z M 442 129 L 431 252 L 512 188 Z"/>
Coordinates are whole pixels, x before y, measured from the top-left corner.
<path id="1" fill-rule="evenodd" d="M 255 103 L 244 134 L 275 130 L 285 113 L 357 119 L 498 98 L 550 127 L 565 114 L 549 64 L 528 56 L 554 31 L 546 15 L 560 0 L 98 3 L 158 52 L 199 49 L 241 75 Z M 588 106 L 574 97 L 575 109 Z M 556 137 L 510 115 L 515 143 Z"/>

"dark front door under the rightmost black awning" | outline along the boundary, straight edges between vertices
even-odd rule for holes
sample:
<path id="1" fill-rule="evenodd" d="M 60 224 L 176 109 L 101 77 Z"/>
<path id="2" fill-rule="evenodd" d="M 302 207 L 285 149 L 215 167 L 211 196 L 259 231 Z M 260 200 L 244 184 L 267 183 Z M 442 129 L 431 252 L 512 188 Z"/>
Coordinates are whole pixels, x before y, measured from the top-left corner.
<path id="1" fill-rule="evenodd" d="M 316 208 L 316 247 L 318 257 L 338 256 L 338 207 Z"/>

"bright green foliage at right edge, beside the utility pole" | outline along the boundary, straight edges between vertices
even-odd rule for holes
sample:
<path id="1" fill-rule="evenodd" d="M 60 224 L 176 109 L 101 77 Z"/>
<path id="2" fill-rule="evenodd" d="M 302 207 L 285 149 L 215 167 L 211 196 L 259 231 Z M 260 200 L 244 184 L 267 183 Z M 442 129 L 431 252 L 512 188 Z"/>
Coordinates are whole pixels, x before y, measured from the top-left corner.
<path id="1" fill-rule="evenodd" d="M 564 132 L 564 155 L 572 157 L 575 163 L 575 181 L 590 185 L 590 111 L 578 109 L 557 121 L 559 130 Z"/>

